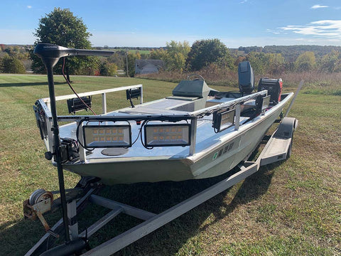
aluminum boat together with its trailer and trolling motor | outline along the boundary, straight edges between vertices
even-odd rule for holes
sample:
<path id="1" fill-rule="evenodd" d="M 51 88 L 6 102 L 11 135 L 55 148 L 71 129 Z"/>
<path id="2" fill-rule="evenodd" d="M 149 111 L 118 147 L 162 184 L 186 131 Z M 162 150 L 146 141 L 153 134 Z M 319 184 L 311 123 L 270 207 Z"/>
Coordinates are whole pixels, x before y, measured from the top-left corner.
<path id="1" fill-rule="evenodd" d="M 26 218 L 39 218 L 46 230 L 26 256 L 81 255 L 85 250 L 87 252 L 82 255 L 112 255 L 254 174 L 260 166 L 290 156 L 298 120 L 282 119 L 281 113 L 293 97 L 285 116 L 288 114 L 303 81 L 295 96 L 292 92 L 281 93 L 281 79 L 262 78 L 254 92 L 251 65 L 242 62 L 238 68 L 238 92 L 217 92 L 208 87 L 200 75 L 190 75 L 174 88 L 173 95 L 146 103 L 143 102 L 142 85 L 75 93 L 77 97 L 55 97 L 53 67 L 60 58 L 111 55 L 112 52 L 40 43 L 34 53 L 43 60 L 47 70 L 50 97 L 37 100 L 33 109 L 47 149 L 45 158 L 57 166 L 59 190 L 40 188 L 23 202 Z M 107 94 L 121 90 L 126 91 L 130 106 L 108 111 Z M 79 110 L 92 110 L 92 95 L 102 95 L 102 114 L 77 115 Z M 136 106 L 131 100 L 135 97 L 140 98 L 140 104 Z M 70 115 L 58 116 L 58 100 L 66 100 Z M 276 120 L 280 124 L 256 161 L 247 161 Z M 239 171 L 236 173 L 158 214 L 96 195 L 103 183 L 209 178 L 224 174 L 237 165 Z M 67 193 L 64 169 L 82 176 L 77 186 Z M 60 198 L 54 201 L 53 193 L 60 193 Z M 110 210 L 80 233 L 78 213 L 88 203 Z M 59 207 L 62 218 L 50 228 L 43 214 Z M 120 213 L 144 222 L 91 249 L 90 236 Z M 65 243 L 51 246 L 53 238 L 60 238 L 62 233 Z"/>

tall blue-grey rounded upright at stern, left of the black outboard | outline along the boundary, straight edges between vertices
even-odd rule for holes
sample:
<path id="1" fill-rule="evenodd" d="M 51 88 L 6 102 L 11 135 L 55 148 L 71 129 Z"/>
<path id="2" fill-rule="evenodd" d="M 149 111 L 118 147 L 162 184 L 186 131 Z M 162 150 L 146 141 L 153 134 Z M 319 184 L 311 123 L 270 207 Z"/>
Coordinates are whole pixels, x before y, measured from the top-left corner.
<path id="1" fill-rule="evenodd" d="M 239 92 L 251 93 L 254 90 L 254 70 L 249 61 L 242 61 L 238 65 Z"/>

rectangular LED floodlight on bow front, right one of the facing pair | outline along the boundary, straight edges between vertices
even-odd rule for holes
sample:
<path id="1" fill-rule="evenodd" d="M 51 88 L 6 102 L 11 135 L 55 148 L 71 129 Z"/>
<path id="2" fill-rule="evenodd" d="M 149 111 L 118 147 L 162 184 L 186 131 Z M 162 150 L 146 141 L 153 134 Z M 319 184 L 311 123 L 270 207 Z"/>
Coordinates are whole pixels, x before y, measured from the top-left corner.
<path id="1" fill-rule="evenodd" d="M 146 146 L 189 146 L 190 124 L 146 124 Z"/>

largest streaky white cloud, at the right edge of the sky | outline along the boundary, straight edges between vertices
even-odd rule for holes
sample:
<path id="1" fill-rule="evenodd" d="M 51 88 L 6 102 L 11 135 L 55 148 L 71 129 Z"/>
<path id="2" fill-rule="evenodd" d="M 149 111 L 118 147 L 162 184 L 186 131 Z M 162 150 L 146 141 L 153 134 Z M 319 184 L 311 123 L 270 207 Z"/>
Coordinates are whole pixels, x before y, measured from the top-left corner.
<path id="1" fill-rule="evenodd" d="M 305 26 L 281 27 L 283 31 L 292 31 L 304 36 L 318 36 L 324 38 L 341 38 L 341 21 L 324 20 L 313 21 Z"/>

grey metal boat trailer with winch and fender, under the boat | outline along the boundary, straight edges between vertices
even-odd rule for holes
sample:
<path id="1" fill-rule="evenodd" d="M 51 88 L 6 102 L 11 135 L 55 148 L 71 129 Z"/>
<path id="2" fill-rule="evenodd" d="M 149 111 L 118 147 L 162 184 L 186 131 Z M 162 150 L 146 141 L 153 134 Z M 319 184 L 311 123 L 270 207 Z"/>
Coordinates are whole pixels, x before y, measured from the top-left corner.
<path id="1" fill-rule="evenodd" d="M 204 191 L 197 193 L 195 196 L 188 198 L 187 200 L 178 203 L 177 205 L 163 211 L 162 213 L 150 213 L 146 210 L 141 210 L 132 206 L 128 206 L 124 203 L 109 200 L 102 196 L 97 196 L 95 193 L 100 187 L 100 183 L 94 180 L 81 180 L 75 189 L 67 193 L 67 219 L 68 230 L 70 233 L 70 242 L 57 247 L 53 247 L 50 250 L 43 252 L 50 242 L 50 238 L 59 237 L 58 233 L 63 230 L 63 218 L 56 223 L 53 228 L 48 228 L 45 219 L 42 214 L 53 208 L 52 193 L 43 190 L 33 192 L 31 198 L 24 203 L 24 209 L 26 209 L 26 217 L 38 218 L 44 224 L 47 233 L 34 245 L 31 250 L 26 253 L 26 256 L 30 255 L 112 255 L 114 252 L 121 250 L 122 248 L 130 245 L 132 242 L 143 238 L 145 235 L 153 232 L 154 230 L 161 228 L 166 223 L 171 222 L 180 215 L 187 213 L 189 210 L 199 206 L 201 203 L 209 200 L 210 198 L 217 196 L 217 194 L 225 191 L 227 188 L 234 186 L 236 183 L 243 181 L 251 174 L 254 174 L 259 170 L 261 166 L 271 164 L 276 161 L 282 161 L 290 157 L 291 145 L 293 143 L 293 132 L 298 125 L 298 120 L 292 117 L 284 117 L 278 128 L 272 134 L 264 149 L 259 154 L 256 161 L 244 161 L 239 164 L 239 171 L 224 178 L 222 181 L 216 183 Z M 80 187 L 80 188 L 79 188 Z M 80 192 L 83 192 L 83 196 L 80 198 Z M 31 205 L 30 203 L 33 203 Z M 58 204 L 58 201 L 56 202 Z M 109 208 L 111 211 L 100 218 L 93 225 L 88 227 L 82 233 L 78 233 L 77 214 L 84 208 L 85 204 L 94 203 L 105 208 Z M 24 210 L 25 211 L 25 210 Z M 88 240 L 94 233 L 97 232 L 104 225 L 109 223 L 114 217 L 124 213 L 131 215 L 135 218 L 144 220 L 143 223 L 136 225 L 134 228 L 127 230 L 121 235 L 107 240 L 107 242 L 94 247 L 90 250 L 88 246 Z M 87 252 L 82 253 L 82 251 Z"/>

